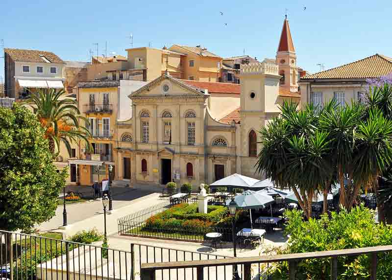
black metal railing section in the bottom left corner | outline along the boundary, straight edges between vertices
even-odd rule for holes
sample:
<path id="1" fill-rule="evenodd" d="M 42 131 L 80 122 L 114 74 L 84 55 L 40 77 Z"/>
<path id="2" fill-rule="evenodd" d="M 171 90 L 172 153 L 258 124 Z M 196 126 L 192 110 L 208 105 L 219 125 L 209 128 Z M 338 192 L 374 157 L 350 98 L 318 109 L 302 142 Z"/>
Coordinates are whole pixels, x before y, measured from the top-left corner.
<path id="1" fill-rule="evenodd" d="M 134 253 L 0 231 L 0 279 L 134 280 Z"/>

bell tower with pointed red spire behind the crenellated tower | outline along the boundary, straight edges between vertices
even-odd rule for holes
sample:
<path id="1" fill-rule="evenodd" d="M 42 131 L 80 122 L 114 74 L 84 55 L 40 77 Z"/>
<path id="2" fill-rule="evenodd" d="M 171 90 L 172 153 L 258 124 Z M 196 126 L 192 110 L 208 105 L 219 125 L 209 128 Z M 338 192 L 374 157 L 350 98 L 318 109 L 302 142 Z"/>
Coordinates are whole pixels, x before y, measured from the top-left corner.
<path id="1" fill-rule="evenodd" d="M 298 68 L 296 67 L 296 60 L 293 38 L 291 37 L 289 20 L 286 15 L 275 60 L 276 64 L 279 65 L 279 75 L 282 76 L 279 81 L 279 86 L 286 91 L 298 91 Z"/>

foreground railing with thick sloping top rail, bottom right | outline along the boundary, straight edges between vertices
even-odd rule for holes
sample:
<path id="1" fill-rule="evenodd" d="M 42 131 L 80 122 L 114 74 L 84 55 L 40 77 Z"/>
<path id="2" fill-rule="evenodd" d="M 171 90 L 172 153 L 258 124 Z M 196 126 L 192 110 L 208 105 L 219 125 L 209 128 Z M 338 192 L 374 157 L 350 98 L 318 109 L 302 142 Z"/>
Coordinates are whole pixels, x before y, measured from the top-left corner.
<path id="1" fill-rule="evenodd" d="M 207 260 L 193 260 L 193 261 L 178 261 L 178 262 L 156 262 L 156 263 L 143 263 L 141 265 L 141 280 L 157 280 L 161 279 L 158 272 L 163 275 L 165 271 L 171 272 L 175 275 L 176 271 L 186 271 L 191 270 L 192 275 L 196 270 L 196 279 L 211 279 L 210 275 L 207 273 L 210 267 L 238 267 L 238 275 L 243 280 L 251 280 L 255 278 L 254 269 L 252 266 L 258 265 L 259 272 L 257 275 L 258 279 L 265 279 L 268 275 L 260 274 L 260 264 L 264 263 L 275 263 L 275 262 L 288 262 L 289 272 L 288 279 L 295 280 L 297 278 L 297 270 L 300 266 L 301 261 L 319 259 L 319 258 L 329 258 L 331 259 L 331 279 L 338 279 L 338 257 L 350 257 L 359 255 L 370 255 L 369 259 L 369 276 L 370 280 L 377 279 L 377 254 L 383 256 L 386 252 L 392 251 L 392 245 L 387 246 L 377 246 L 377 247 L 365 247 L 365 248 L 355 248 L 355 249 L 344 249 L 344 250 L 334 250 L 334 251 L 321 251 L 321 252 L 310 252 L 310 253 L 298 253 L 298 254 L 287 254 L 287 255 L 273 255 L 265 257 L 237 257 L 237 258 L 224 258 L 224 259 L 207 259 Z M 343 268 L 345 269 L 345 268 Z M 253 273 L 252 273 L 253 270 Z M 342 270 L 342 268 L 341 268 Z M 257 272 L 257 270 L 256 270 Z M 233 272 L 234 273 L 234 272 Z M 303 275 L 302 275 L 303 277 Z M 165 279 L 175 279 L 165 278 Z M 178 278 L 177 278 L 178 279 Z M 221 278 L 223 279 L 223 276 Z M 302 279 L 302 278 L 300 278 Z"/>

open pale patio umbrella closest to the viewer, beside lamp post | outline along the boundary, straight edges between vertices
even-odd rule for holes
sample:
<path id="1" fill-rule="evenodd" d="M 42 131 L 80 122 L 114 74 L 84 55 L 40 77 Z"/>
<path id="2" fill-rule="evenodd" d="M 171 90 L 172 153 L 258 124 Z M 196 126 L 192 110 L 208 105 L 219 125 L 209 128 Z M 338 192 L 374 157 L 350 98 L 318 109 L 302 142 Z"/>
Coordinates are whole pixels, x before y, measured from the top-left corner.
<path id="1" fill-rule="evenodd" d="M 226 200 L 228 206 L 231 199 Z M 238 208 L 249 209 L 250 213 L 250 227 L 252 225 L 252 211 L 251 209 L 264 208 L 274 202 L 273 198 L 269 195 L 256 192 L 254 190 L 245 190 L 242 194 L 236 195 L 234 201 L 237 203 Z"/>

